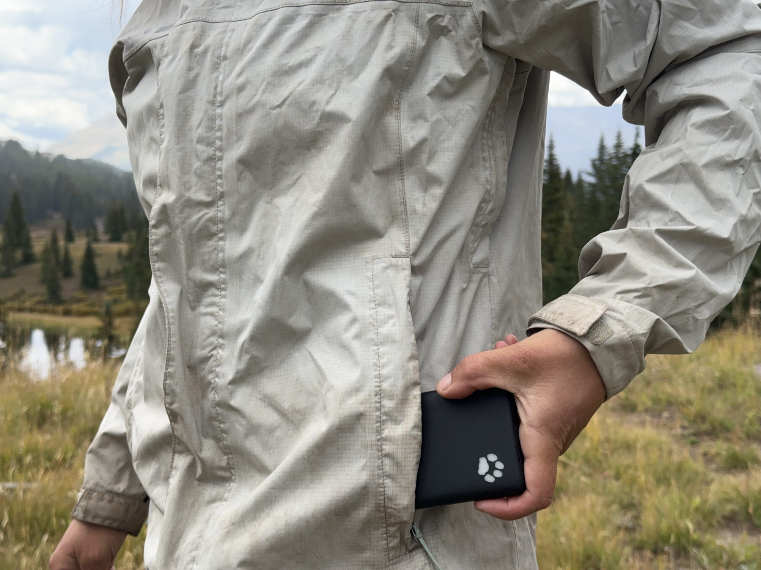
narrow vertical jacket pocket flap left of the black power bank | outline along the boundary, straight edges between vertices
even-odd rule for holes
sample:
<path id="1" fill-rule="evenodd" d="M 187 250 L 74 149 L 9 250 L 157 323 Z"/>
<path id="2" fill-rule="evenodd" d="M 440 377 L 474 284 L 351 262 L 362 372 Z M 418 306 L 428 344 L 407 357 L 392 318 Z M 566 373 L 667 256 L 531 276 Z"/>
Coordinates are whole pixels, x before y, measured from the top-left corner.
<path id="1" fill-rule="evenodd" d="M 412 515 L 420 460 L 420 374 L 409 309 L 409 258 L 371 261 L 375 321 L 375 406 L 379 510 L 387 559 L 412 549 Z"/>

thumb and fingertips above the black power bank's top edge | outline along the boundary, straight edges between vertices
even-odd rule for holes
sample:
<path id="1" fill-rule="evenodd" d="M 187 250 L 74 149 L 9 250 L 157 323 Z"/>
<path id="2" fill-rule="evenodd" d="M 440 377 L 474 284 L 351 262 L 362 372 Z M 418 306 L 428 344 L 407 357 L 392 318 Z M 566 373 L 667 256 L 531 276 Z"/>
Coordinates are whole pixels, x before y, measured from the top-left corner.
<path id="1" fill-rule="evenodd" d="M 508 334 L 505 340 L 495 344 L 494 350 L 466 356 L 439 380 L 436 391 L 448 398 L 467 397 L 487 388 L 514 391 L 514 381 L 525 361 L 525 351 L 515 346 L 517 344 L 517 337 Z"/>

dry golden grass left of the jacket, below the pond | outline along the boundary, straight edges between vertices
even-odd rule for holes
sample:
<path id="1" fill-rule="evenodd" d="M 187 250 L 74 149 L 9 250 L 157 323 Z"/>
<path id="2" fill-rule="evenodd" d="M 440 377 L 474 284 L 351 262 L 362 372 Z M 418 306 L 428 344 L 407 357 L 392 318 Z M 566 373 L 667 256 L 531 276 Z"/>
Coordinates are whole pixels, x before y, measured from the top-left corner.
<path id="1" fill-rule="evenodd" d="M 68 525 L 84 452 L 108 407 L 118 363 L 65 370 L 49 382 L 0 374 L 0 568 L 37 570 Z M 119 570 L 142 568 L 142 537 L 128 538 Z"/>

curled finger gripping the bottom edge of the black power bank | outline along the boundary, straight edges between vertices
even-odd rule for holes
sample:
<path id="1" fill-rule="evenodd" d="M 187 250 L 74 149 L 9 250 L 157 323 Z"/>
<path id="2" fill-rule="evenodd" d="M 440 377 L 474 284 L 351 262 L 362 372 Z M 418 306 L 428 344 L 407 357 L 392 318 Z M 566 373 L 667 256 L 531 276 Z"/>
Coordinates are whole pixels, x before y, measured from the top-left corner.
<path id="1" fill-rule="evenodd" d="M 477 510 L 515 521 L 533 512 L 541 511 L 552 503 L 560 456 L 557 445 L 536 429 L 521 425 L 521 448 L 524 450 L 526 491 L 516 497 L 476 501 Z"/>

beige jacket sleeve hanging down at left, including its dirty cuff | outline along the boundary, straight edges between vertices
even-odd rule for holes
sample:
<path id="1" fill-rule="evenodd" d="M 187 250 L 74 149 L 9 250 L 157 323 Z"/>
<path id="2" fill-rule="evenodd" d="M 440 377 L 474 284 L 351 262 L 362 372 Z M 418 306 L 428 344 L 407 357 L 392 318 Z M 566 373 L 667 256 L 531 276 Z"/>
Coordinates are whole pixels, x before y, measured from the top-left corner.
<path id="1" fill-rule="evenodd" d="M 151 278 L 151 288 L 154 287 Z M 151 302 L 154 296 L 151 295 Z M 136 366 L 148 310 L 140 319 L 113 385 L 111 402 L 84 458 L 84 483 L 72 518 L 137 535 L 148 517 L 148 495 L 135 469 L 126 434 L 126 391 Z"/>

